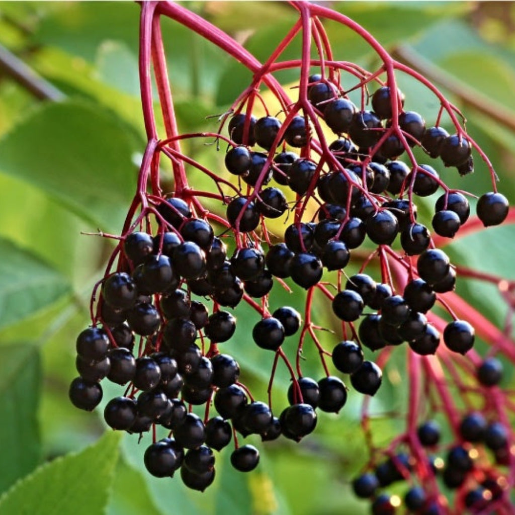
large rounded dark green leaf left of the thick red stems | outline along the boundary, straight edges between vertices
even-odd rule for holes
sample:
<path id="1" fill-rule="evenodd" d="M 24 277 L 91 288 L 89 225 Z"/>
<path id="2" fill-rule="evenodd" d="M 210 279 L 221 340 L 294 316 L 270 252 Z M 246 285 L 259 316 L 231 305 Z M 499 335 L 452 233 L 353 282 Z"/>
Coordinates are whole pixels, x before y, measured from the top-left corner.
<path id="1" fill-rule="evenodd" d="M 135 190 L 131 157 L 142 149 L 132 130 L 98 105 L 48 104 L 0 140 L 0 171 L 101 228 L 118 230 Z"/>

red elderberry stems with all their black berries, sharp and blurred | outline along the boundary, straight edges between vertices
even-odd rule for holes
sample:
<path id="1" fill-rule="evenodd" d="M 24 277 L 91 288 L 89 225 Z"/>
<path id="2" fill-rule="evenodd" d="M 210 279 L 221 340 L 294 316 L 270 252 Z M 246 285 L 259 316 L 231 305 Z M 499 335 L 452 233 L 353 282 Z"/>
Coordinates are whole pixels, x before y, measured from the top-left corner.
<path id="1" fill-rule="evenodd" d="M 233 440 L 232 465 L 251 471 L 259 451 L 238 439 L 258 434 L 263 441 L 281 436 L 300 441 L 315 430 L 317 410 L 338 413 L 349 394 L 361 393 L 370 457 L 352 485 L 358 497 L 370 499 L 372 513 L 394 513 L 400 505 L 426 515 L 512 513 L 515 401 L 499 387 L 503 371 L 496 356 L 515 363 L 515 283 L 451 264 L 438 247 L 483 226 L 513 222 L 515 210 L 497 192 L 495 171 L 466 131 L 464 116 L 432 83 L 390 57 L 346 16 L 320 5 L 290 4 L 298 21 L 260 63 L 183 6 L 142 3 L 139 69 L 148 143 L 121 234 L 104 234 L 117 244 L 93 289 L 91 327 L 77 338 L 79 376 L 70 387 L 71 401 L 93 410 L 102 399 L 101 380 L 120 385 L 121 395 L 104 410 L 107 424 L 140 437 L 151 432 L 144 455 L 148 472 L 170 477 L 180 470 L 187 487 L 203 491 L 215 477 L 213 450 Z M 161 16 L 195 31 L 252 72 L 251 83 L 220 116 L 216 131 L 179 132 Z M 364 38 L 381 65 L 367 71 L 338 60 L 324 19 Z M 299 59 L 281 61 L 299 35 Z M 297 100 L 273 76 L 292 69 L 299 71 L 291 89 Z M 163 138 L 153 110 L 152 73 Z M 436 96 L 440 108 L 433 126 L 404 109 L 396 73 L 413 77 Z M 262 94 L 263 87 L 270 96 Z M 352 92 L 359 92 L 358 105 Z M 273 116 L 276 106 L 280 111 Z M 260 111 L 265 115 L 253 115 Z M 444 115 L 455 133 L 440 125 Z M 181 144 L 192 140 L 211 144 L 213 152 L 225 146 L 226 171 L 187 155 Z M 489 169 L 492 191 L 478 197 L 475 217 L 469 220 L 467 199 L 475 195 L 449 188 L 435 167 L 417 161 L 414 148 L 439 160 L 437 168 L 456 168 L 463 176 L 472 173 L 472 151 L 477 152 Z M 162 191 L 161 159 L 171 162 L 175 189 L 170 193 Z M 190 185 L 197 174 L 211 190 Z M 272 179 L 277 186 L 267 186 Z M 432 235 L 417 221 L 416 201 L 438 190 L 443 193 L 435 204 Z M 218 208 L 208 209 L 208 200 Z M 274 235 L 267 220 L 289 212 L 293 223 L 282 237 Z M 364 250 L 367 238 L 373 251 Z M 349 276 L 351 254 L 361 268 Z M 454 292 L 456 278 L 497 285 L 507 305 L 503 329 Z M 274 282 L 287 291 L 292 283 L 306 289 L 302 315 L 289 306 L 271 307 Z M 330 304 L 341 322 L 340 334 L 331 331 L 330 350 L 318 336 L 327 329 L 317 324 L 315 298 L 317 304 Z M 232 338 L 242 302 L 256 313 L 255 345 L 273 353 L 266 403 L 239 381 L 236 358 L 219 348 Z M 282 344 L 294 335 L 293 361 Z M 476 335 L 488 344 L 484 356 L 474 348 Z M 319 354 L 323 377 L 318 381 L 303 375 L 306 345 Z M 405 428 L 378 448 L 370 399 L 401 345 L 409 383 Z M 365 359 L 364 348 L 376 353 L 373 362 Z M 280 364 L 291 385 L 289 405 L 278 414 L 272 388 Z M 352 389 L 330 366 L 348 375 Z M 440 441 L 433 414 L 443 416 L 451 440 Z M 158 439 L 157 426 L 167 431 L 165 438 Z M 409 484 L 403 499 L 395 493 L 401 480 Z"/>

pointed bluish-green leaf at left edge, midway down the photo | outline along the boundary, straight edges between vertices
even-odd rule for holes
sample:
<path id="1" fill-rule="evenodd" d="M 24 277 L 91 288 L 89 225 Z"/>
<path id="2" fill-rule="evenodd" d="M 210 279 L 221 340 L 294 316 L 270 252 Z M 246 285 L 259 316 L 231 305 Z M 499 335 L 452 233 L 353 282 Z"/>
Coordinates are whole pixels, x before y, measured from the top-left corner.
<path id="1" fill-rule="evenodd" d="M 0 328 L 41 310 L 70 289 L 65 278 L 35 255 L 0 238 Z"/>

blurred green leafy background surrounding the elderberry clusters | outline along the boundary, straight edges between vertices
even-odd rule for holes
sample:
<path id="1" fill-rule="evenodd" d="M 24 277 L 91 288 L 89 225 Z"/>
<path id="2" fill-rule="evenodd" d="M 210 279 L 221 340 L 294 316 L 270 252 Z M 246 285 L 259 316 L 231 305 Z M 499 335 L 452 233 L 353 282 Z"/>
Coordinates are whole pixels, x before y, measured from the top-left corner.
<path id="1" fill-rule="evenodd" d="M 364 25 L 400 60 L 427 73 L 464 110 L 469 132 L 501 178 L 500 191 L 515 201 L 515 4 L 329 4 Z M 296 19 L 294 10 L 279 2 L 185 6 L 261 60 Z M 145 146 L 138 27 L 139 7 L 133 3 L 0 3 L 2 47 L 62 93 L 59 101 L 36 98 L 0 66 L 0 491 L 5 492 L 0 513 L 28 508 L 88 515 L 366 513 L 368 503 L 356 500 L 349 488 L 368 458 L 359 430 L 361 399 L 354 392 L 339 416 L 321 414 L 316 432 L 301 444 L 260 444 L 261 464 L 251 474 L 234 472 L 229 452 L 222 453 L 215 484 L 204 494 L 183 488 L 179 478 L 151 477 L 142 459 L 147 437 L 138 445 L 135 436 L 106 433 L 101 410 L 83 413 L 68 401 L 76 375 L 75 338 L 88 324 L 91 288 L 112 248 L 109 241 L 81 232 L 121 230 Z M 337 59 L 377 65 L 349 30 L 326 27 Z M 224 112 L 250 74 L 175 22 L 163 20 L 163 32 L 180 130 L 215 131 L 216 118 L 205 117 Z M 298 57 L 299 47 L 297 38 L 284 58 Z M 296 74 L 287 71 L 278 78 L 294 83 Z M 434 122 L 435 97 L 409 77 L 400 75 L 399 82 L 406 108 Z M 220 169 L 223 149 L 192 141 L 184 150 Z M 475 157 L 475 174 L 460 178 L 445 170 L 445 181 L 473 193 L 491 190 Z M 166 168 L 164 180 L 165 190 L 171 190 Z M 424 201 L 427 216 L 434 199 Z M 513 236 L 510 227 L 490 229 L 448 250 L 456 262 L 513 279 Z M 462 295 L 502 323 L 505 307 L 495 289 L 459 283 Z M 273 295 L 283 304 L 303 306 L 302 295 L 279 288 Z M 320 310 L 317 320 L 330 328 L 335 321 L 326 311 Z M 248 341 L 254 322 L 246 321 L 245 310 L 238 315 L 242 323 L 228 351 L 231 345 L 245 346 L 234 352 L 245 382 L 264 393 L 271 358 Z M 323 337 L 334 345 L 336 336 Z M 318 378 L 316 356 L 308 352 L 307 357 L 306 372 Z M 372 403 L 377 445 L 389 442 L 403 424 L 404 360 L 404 350 L 393 354 Z M 287 377 L 280 373 L 275 396 L 284 398 L 286 388 Z M 116 394 L 105 388 L 105 398 Z"/>

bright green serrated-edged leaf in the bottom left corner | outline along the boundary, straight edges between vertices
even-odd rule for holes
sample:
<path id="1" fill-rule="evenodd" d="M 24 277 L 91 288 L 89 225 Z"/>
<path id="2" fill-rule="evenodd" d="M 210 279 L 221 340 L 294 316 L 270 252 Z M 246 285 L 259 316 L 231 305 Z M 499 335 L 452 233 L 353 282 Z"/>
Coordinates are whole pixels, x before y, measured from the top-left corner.
<path id="1" fill-rule="evenodd" d="M 0 499 L 1 515 L 100 515 L 118 459 L 119 434 L 39 467 Z"/>

